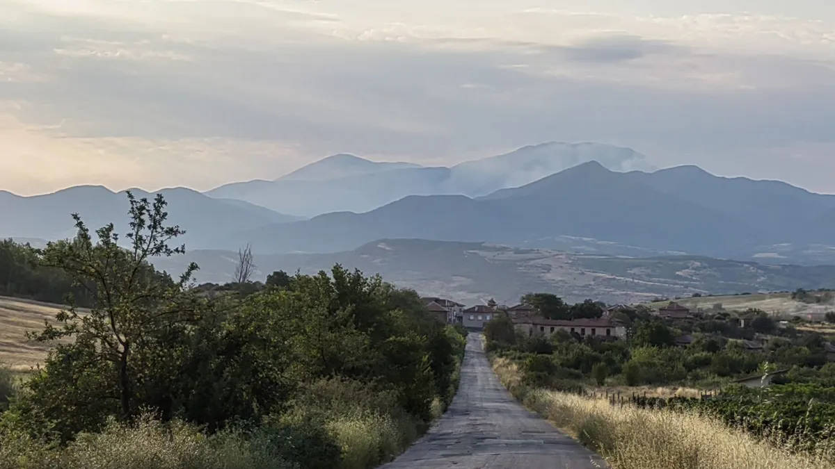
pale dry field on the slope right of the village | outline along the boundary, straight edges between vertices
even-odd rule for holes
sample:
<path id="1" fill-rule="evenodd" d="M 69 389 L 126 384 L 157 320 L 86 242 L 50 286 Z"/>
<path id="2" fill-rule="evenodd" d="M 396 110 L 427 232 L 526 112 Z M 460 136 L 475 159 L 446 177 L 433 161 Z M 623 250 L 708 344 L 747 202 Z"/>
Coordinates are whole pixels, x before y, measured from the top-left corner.
<path id="1" fill-rule="evenodd" d="M 821 320 L 828 311 L 835 311 L 835 305 L 809 305 L 792 300 L 790 293 L 701 296 L 698 298 L 683 298 L 676 300 L 676 302 L 696 310 L 710 310 L 713 305 L 721 303 L 726 310 L 742 311 L 753 308 L 775 315 L 802 315 L 804 319 L 812 320 Z M 645 305 L 657 309 L 667 303 L 669 301 L 658 301 Z"/>

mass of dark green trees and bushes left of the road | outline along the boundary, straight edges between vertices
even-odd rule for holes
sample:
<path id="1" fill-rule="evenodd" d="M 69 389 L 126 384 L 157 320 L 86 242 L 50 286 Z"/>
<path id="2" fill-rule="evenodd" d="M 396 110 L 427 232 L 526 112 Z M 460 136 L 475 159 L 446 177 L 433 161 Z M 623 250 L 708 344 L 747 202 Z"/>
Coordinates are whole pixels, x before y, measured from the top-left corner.
<path id="1" fill-rule="evenodd" d="M 158 455 L 169 466 L 195 466 L 180 429 L 206 467 L 358 469 L 391 459 L 452 400 L 465 335 L 416 292 L 336 265 L 207 295 L 197 265 L 173 277 L 151 264 L 185 252 L 163 197 L 128 197 L 127 247 L 113 224 L 91 231 L 78 215 L 73 240 L 3 244 L 3 293 L 68 303 L 30 335 L 54 345 L 0 416 L 0 467 L 105 467 L 89 451 L 142 438 L 170 446 Z"/>

